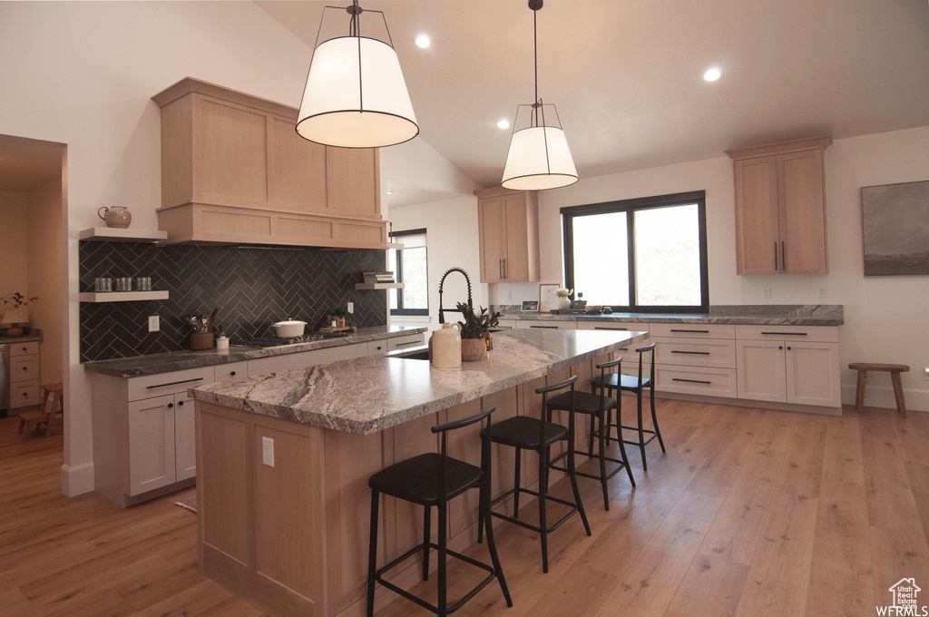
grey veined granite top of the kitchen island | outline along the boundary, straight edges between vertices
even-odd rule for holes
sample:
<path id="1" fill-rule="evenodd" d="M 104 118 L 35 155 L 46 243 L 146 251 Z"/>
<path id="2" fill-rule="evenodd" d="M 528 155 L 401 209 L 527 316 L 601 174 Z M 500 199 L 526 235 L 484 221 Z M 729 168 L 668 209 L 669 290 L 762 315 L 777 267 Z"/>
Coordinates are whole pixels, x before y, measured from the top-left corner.
<path id="1" fill-rule="evenodd" d="M 436 369 L 369 356 L 190 390 L 196 400 L 370 435 L 645 340 L 647 333 L 519 330 L 493 336 L 487 360 Z"/>

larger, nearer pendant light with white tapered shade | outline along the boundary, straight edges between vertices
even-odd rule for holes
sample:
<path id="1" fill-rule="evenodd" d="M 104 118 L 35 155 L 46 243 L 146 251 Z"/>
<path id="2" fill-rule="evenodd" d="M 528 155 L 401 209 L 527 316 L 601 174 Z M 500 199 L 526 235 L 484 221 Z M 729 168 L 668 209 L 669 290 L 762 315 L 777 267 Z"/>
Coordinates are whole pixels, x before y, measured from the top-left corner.
<path id="1" fill-rule="evenodd" d="M 300 137 L 342 148 L 379 148 L 409 141 L 419 134 L 397 52 L 387 21 L 387 43 L 361 36 L 361 7 L 358 0 L 345 10 L 348 35 L 320 43 L 316 34 L 307 87 L 300 103 L 296 132 Z"/>

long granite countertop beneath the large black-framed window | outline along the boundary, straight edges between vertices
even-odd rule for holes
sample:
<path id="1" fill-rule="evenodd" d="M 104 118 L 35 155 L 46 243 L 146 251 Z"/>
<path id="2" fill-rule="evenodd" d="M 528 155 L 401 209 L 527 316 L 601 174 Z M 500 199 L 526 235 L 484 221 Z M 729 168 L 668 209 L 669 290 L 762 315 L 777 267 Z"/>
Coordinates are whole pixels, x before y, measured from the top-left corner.
<path id="1" fill-rule="evenodd" d="M 612 313 L 609 315 L 560 315 L 521 313 L 506 309 L 500 319 L 545 322 L 653 322 L 735 323 L 744 325 L 842 325 L 841 304 L 828 305 L 736 305 L 710 307 L 709 313 Z"/>

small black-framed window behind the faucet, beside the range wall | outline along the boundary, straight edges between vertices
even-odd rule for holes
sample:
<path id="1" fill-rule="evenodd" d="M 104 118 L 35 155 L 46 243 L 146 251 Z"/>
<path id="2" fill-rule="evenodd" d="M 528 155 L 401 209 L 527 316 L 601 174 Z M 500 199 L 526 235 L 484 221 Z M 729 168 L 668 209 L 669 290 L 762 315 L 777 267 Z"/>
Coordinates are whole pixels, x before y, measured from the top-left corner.
<path id="1" fill-rule="evenodd" d="M 387 268 L 403 289 L 389 290 L 391 315 L 429 314 L 429 272 L 426 265 L 425 230 L 394 231 L 399 250 L 387 251 Z"/>

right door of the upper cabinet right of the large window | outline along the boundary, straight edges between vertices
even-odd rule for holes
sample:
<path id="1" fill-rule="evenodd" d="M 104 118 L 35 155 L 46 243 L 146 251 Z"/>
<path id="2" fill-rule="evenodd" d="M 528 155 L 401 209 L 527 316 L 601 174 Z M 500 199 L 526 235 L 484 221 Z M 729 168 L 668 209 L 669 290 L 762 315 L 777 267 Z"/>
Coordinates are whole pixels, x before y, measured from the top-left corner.
<path id="1" fill-rule="evenodd" d="M 780 269 L 787 274 L 826 272 L 826 208 L 822 151 L 778 156 Z"/>

